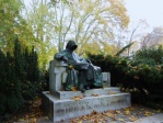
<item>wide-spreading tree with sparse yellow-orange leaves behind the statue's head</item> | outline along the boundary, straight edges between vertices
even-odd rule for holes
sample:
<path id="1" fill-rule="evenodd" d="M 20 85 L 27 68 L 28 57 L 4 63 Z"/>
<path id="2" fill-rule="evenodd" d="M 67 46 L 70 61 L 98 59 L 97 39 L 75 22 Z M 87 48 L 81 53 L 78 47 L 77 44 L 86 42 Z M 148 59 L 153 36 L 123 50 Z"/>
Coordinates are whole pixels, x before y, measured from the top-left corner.
<path id="1" fill-rule="evenodd" d="M 127 26 L 129 20 L 120 0 L 81 0 L 54 1 L 56 41 L 58 51 L 73 38 L 78 44 L 78 53 L 83 52 L 88 43 L 108 42 L 113 38 L 113 27 Z"/>

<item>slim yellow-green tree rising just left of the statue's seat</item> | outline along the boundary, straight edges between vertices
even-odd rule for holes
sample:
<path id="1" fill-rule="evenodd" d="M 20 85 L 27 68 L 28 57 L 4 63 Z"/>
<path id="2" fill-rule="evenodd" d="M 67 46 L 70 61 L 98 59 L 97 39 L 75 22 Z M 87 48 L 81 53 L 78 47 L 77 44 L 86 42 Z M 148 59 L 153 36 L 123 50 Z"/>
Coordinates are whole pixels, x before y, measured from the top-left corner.
<path id="1" fill-rule="evenodd" d="M 50 4 L 46 0 L 31 1 L 30 7 L 24 4 L 24 19 L 37 41 L 34 47 L 38 52 L 39 67 L 47 69 L 47 63 L 57 52 L 55 43 L 51 43 L 55 31 L 51 25 L 54 13 L 50 10 Z"/>

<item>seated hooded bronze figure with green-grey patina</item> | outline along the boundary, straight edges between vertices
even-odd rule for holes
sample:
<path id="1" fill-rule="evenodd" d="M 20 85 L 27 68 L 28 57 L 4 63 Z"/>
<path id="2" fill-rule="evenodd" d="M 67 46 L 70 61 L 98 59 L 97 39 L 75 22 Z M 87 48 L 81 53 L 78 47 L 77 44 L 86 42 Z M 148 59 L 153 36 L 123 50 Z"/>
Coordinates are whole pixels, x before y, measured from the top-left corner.
<path id="1" fill-rule="evenodd" d="M 101 88 L 103 82 L 101 68 L 77 55 L 74 53 L 77 47 L 74 41 L 69 41 L 66 49 L 55 55 L 56 59 L 63 60 L 69 66 L 66 90 L 72 90 L 74 87 L 84 92 L 90 88 Z"/>

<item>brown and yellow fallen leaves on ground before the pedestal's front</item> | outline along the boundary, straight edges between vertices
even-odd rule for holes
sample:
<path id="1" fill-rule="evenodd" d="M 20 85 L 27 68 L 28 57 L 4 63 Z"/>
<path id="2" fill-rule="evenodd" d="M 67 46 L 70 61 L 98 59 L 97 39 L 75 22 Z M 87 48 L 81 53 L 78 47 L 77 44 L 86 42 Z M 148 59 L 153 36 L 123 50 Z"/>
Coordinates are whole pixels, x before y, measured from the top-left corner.
<path id="1" fill-rule="evenodd" d="M 155 111 L 156 112 L 156 111 Z M 142 116 L 149 116 L 154 114 L 148 110 L 139 108 L 124 108 L 121 110 L 108 110 L 102 113 L 93 111 L 91 114 L 82 115 L 77 119 L 71 119 L 70 123 L 126 123 L 141 120 Z"/>

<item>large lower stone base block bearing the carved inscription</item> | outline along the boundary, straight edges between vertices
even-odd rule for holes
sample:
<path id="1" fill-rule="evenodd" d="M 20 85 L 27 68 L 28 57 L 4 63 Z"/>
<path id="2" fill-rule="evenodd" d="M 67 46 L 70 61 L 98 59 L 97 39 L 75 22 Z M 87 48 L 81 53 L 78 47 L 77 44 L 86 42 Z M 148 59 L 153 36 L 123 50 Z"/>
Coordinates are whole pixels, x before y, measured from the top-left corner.
<path id="1" fill-rule="evenodd" d="M 53 122 L 59 122 L 61 120 L 69 120 L 90 114 L 94 110 L 97 112 L 104 112 L 131 105 L 130 93 L 104 93 L 98 97 L 92 97 L 91 93 L 94 91 L 94 94 L 98 94 L 97 92 L 100 89 L 89 91 L 85 92 L 90 93 L 88 94 L 89 97 L 85 96 L 80 100 L 58 99 L 48 91 L 44 91 L 42 99 L 43 111 L 53 120 Z"/>

